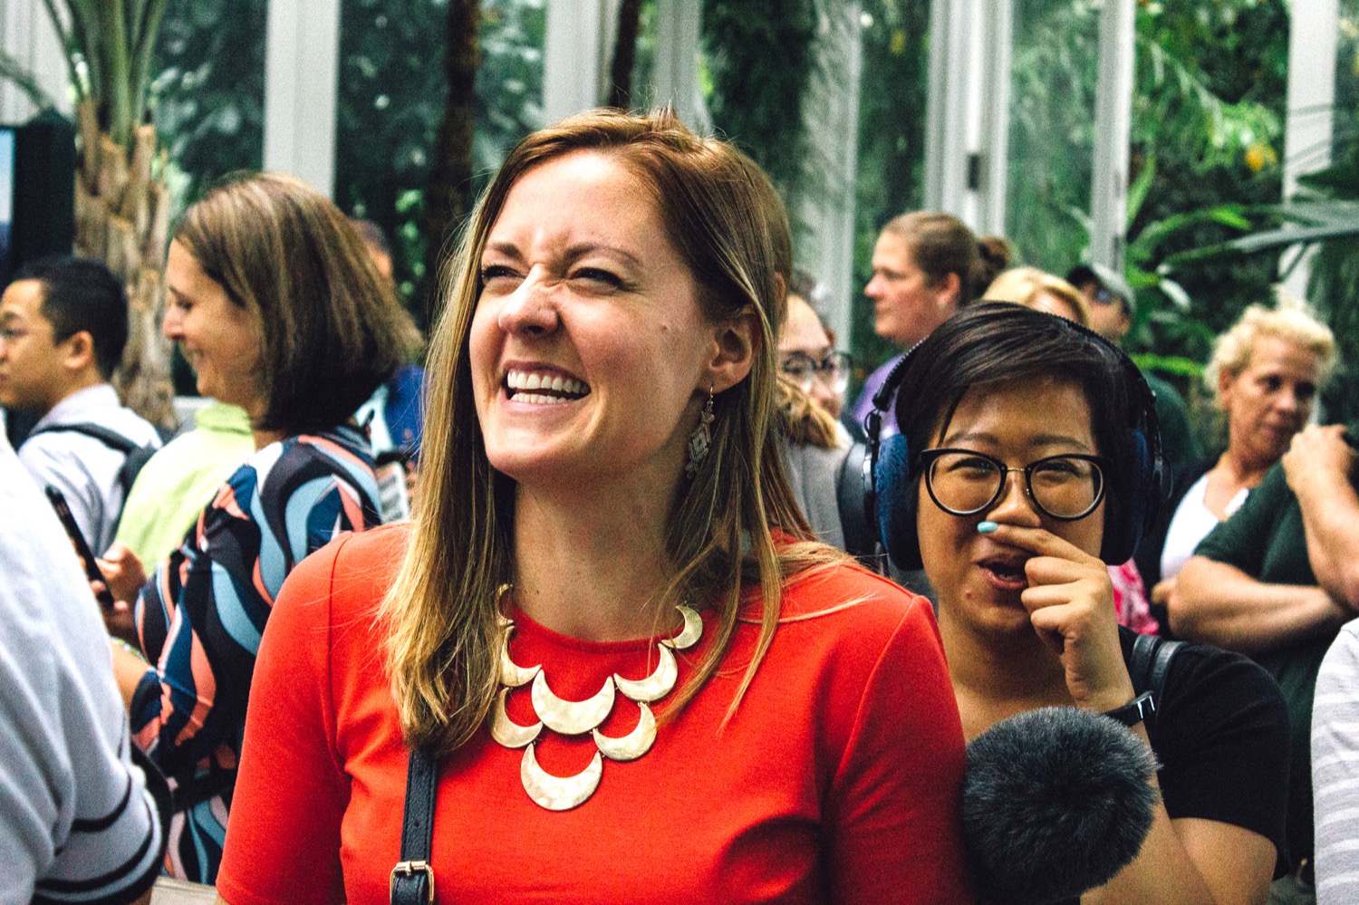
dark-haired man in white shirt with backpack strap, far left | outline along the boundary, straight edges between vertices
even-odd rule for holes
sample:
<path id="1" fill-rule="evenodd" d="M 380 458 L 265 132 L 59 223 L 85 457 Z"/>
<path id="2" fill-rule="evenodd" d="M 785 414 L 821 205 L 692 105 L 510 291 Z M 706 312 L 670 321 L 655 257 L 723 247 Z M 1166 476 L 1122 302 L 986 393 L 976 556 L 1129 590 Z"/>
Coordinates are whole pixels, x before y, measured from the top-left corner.
<path id="1" fill-rule="evenodd" d="M 128 296 L 98 261 L 35 261 L 0 296 L 0 405 L 38 417 L 19 461 L 61 491 L 95 553 L 113 541 L 129 452 L 160 446 L 109 383 L 126 342 Z"/>

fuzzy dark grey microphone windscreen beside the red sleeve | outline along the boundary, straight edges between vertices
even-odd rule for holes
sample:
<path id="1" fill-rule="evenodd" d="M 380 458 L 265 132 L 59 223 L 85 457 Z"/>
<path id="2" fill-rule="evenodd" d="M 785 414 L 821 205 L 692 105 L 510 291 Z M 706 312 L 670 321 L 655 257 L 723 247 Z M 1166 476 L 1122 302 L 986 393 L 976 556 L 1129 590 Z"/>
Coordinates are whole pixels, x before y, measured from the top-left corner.
<path id="1" fill-rule="evenodd" d="M 964 842 L 981 901 L 1076 900 L 1142 849 L 1158 794 L 1157 758 L 1116 720 L 1045 707 L 968 745 Z"/>

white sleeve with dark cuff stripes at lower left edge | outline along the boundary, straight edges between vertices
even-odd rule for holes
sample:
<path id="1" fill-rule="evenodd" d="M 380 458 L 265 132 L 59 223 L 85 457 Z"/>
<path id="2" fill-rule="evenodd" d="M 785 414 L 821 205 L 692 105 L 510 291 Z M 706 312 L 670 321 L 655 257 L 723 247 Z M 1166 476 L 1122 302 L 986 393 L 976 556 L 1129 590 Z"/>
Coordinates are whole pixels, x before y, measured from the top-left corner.
<path id="1" fill-rule="evenodd" d="M 0 905 L 121 905 L 159 872 L 160 819 L 98 605 L 18 469 L 0 444 L 0 512 L 16 514 L 0 519 Z"/>

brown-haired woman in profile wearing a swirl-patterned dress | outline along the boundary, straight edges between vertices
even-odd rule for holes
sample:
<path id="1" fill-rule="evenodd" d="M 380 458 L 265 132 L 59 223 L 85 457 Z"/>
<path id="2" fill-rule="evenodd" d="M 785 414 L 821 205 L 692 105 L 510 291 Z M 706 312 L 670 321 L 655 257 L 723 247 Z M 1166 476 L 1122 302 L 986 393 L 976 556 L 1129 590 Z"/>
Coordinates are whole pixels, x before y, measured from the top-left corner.
<path id="1" fill-rule="evenodd" d="M 212 883 L 260 633 L 299 561 L 379 522 L 351 416 L 416 336 L 348 219 L 287 175 L 239 178 L 189 208 L 166 284 L 166 336 L 202 395 L 246 410 L 255 452 L 149 582 L 120 545 L 105 571 L 137 601 L 147 659 L 114 648 L 133 735 L 177 785 L 166 867 Z"/>

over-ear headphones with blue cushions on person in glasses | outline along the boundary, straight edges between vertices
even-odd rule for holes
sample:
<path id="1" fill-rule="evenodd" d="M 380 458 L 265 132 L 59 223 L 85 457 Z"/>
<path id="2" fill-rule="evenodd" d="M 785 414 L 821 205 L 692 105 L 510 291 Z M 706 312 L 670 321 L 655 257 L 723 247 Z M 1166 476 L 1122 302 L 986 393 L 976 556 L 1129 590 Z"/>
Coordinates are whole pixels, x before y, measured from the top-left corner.
<path id="1" fill-rule="evenodd" d="M 1041 313 L 1036 313 L 1041 314 Z M 1098 342 L 1114 353 L 1123 366 L 1131 387 L 1131 410 L 1127 419 L 1124 443 L 1127 448 L 1116 461 L 1132 463 L 1127 481 L 1109 481 L 1105 497 L 1104 542 L 1099 558 L 1118 565 L 1132 558 L 1143 533 L 1155 525 L 1162 497 L 1161 429 L 1157 424 L 1157 395 L 1147 379 L 1123 349 L 1087 327 L 1057 318 L 1070 327 L 1072 337 Z M 916 537 L 916 500 L 920 484 L 919 450 L 906 448 L 905 433 L 882 438 L 882 416 L 890 410 L 897 387 L 905 379 L 917 357 L 916 352 L 928 340 L 921 340 L 902 356 L 892 370 L 882 389 L 872 397 L 872 412 L 864 421 L 868 433 L 868 454 L 863 463 L 864 512 L 870 529 L 892 563 L 904 571 L 923 568 L 920 539 Z"/>

